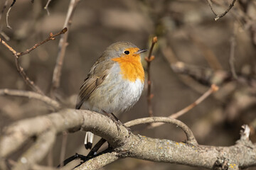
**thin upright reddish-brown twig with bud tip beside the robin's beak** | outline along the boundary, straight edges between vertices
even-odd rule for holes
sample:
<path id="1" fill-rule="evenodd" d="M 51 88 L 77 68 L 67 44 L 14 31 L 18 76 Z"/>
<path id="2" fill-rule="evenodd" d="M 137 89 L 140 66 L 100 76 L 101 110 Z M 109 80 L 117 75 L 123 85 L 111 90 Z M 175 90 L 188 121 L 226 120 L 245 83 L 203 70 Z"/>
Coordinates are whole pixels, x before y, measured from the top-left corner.
<path id="1" fill-rule="evenodd" d="M 154 55 L 152 55 L 152 51 L 153 51 L 153 48 L 154 48 L 154 45 L 156 44 L 157 42 L 157 37 L 154 37 L 152 39 L 152 42 L 151 42 L 151 47 L 150 47 L 150 50 L 149 50 L 149 56 L 148 57 L 145 57 L 145 60 L 146 60 L 146 63 L 147 63 L 147 67 L 146 67 L 146 71 L 147 71 L 147 85 L 148 85 L 148 88 L 147 88 L 147 103 L 148 103 L 148 112 L 149 112 L 149 116 L 152 117 L 153 116 L 153 108 L 152 108 L 152 103 L 151 103 L 151 99 L 153 98 L 153 94 L 151 94 L 151 77 L 150 77 L 150 64 L 151 62 L 154 60 Z"/>

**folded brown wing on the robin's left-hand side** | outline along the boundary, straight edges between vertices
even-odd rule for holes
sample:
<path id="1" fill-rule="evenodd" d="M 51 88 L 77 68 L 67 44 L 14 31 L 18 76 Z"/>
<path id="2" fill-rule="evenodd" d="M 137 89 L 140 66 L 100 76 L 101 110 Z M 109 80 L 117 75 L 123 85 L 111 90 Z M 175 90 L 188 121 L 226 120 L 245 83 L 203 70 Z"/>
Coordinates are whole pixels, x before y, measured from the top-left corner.
<path id="1" fill-rule="evenodd" d="M 97 89 L 100 84 L 105 80 L 107 74 L 112 67 L 113 61 L 104 61 L 100 57 L 97 62 L 92 66 L 87 78 L 80 87 L 80 93 L 75 108 L 80 109 L 82 103 L 90 98 L 91 94 Z M 102 72 L 102 70 L 104 70 Z"/>

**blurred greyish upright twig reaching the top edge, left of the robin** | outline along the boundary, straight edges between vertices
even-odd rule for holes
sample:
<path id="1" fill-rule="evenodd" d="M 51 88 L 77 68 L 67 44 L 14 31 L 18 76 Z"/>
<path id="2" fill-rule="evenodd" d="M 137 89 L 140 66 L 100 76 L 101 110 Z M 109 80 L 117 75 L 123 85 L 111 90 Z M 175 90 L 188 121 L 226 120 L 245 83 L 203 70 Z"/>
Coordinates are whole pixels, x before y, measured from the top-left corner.
<path id="1" fill-rule="evenodd" d="M 80 0 L 70 0 L 70 5 L 68 8 L 68 13 L 65 19 L 64 27 L 70 28 L 72 23 L 73 14 L 75 11 L 76 6 L 78 6 L 78 3 Z M 50 95 L 54 97 L 55 89 L 57 89 L 60 86 L 60 76 L 61 76 L 61 69 L 63 66 L 63 60 L 65 57 L 65 49 L 68 45 L 68 33 L 65 35 L 62 35 L 58 44 L 58 57 L 55 64 L 55 68 L 53 70 L 53 80 L 52 80 L 52 86 L 50 89 Z"/>

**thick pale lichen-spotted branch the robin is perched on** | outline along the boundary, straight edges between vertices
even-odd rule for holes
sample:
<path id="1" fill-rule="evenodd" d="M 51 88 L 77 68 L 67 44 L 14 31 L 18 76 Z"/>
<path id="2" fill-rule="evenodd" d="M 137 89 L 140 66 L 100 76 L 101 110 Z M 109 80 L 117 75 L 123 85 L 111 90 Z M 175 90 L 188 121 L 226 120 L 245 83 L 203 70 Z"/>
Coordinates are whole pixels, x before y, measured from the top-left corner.
<path id="1" fill-rule="evenodd" d="M 154 122 L 158 121 L 158 119 L 169 120 L 169 118 L 152 117 L 146 118 L 144 121 L 139 120 L 139 123 Z M 136 122 L 138 120 L 133 121 Z M 246 129 L 242 134 L 248 134 Z M 76 169 L 99 169 L 124 157 L 146 159 L 153 162 L 186 164 L 208 169 L 220 166 L 223 160 L 225 160 L 228 167 L 233 166 L 235 169 L 256 165 L 256 145 L 253 145 L 248 140 L 247 135 L 242 135 L 243 137 L 230 147 L 211 147 L 193 145 L 191 142 L 152 139 L 141 135 L 129 135 L 127 129 L 122 126 L 118 131 L 115 123 L 105 115 L 73 109 L 20 120 L 9 125 L 9 127 L 5 128 L 4 135 L 0 139 L 1 160 L 14 153 L 29 137 L 35 135 L 42 137 L 42 134 L 46 134 L 49 130 L 56 135 L 64 130 L 69 132 L 78 130 L 91 131 L 110 143 L 112 149 L 107 149 L 106 152 L 90 158 L 90 162 L 85 162 Z M 31 148 L 33 149 L 33 147 Z M 37 153 L 36 150 L 31 148 L 29 149 L 31 153 Z M 49 147 L 45 149 L 48 151 Z M 41 155 L 42 157 L 43 154 Z M 32 157 L 32 154 L 30 157 Z M 39 158 L 39 155 L 37 157 Z M 39 159 L 36 159 L 34 164 L 38 161 Z"/>

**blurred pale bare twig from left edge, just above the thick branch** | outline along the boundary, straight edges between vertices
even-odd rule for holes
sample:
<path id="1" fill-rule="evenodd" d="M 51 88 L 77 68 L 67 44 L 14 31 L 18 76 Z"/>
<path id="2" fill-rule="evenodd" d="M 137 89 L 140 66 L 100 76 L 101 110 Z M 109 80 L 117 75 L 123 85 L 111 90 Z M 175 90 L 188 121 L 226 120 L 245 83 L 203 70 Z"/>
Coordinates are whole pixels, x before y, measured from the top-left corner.
<path id="1" fill-rule="evenodd" d="M 34 98 L 38 101 L 43 101 L 55 109 L 60 109 L 60 103 L 55 101 L 48 96 L 35 93 L 33 91 L 22 91 L 22 90 L 12 90 L 12 89 L 0 89 L 0 96 L 18 96 L 26 98 Z"/>

